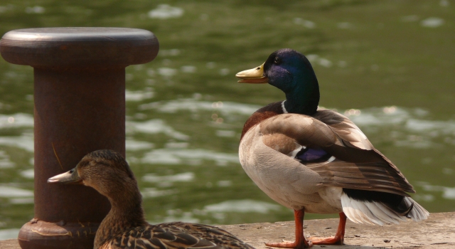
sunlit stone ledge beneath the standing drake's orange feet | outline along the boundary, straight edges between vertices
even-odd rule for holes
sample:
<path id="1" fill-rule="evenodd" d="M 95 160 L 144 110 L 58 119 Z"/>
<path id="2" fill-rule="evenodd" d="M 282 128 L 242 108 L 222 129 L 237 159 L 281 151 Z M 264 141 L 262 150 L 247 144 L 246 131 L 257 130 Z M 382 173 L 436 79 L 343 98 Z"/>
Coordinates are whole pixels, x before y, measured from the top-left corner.
<path id="1" fill-rule="evenodd" d="M 338 219 L 304 221 L 305 235 L 335 235 Z M 220 226 L 257 249 L 265 242 L 294 240 L 294 221 L 251 223 Z M 427 221 L 404 222 L 400 225 L 368 226 L 346 223 L 345 245 L 314 245 L 313 248 L 455 248 L 455 212 L 432 213 Z M 18 241 L 0 240 L 1 249 L 18 249 Z"/>

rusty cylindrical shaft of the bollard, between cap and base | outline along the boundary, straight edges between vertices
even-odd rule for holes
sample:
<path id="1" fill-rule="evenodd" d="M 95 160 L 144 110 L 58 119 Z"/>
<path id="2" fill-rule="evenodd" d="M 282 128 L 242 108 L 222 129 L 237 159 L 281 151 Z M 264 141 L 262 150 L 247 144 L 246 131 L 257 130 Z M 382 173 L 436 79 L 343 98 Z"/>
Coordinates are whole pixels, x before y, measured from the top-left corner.
<path id="1" fill-rule="evenodd" d="M 34 75 L 35 218 L 99 223 L 110 208 L 107 198 L 89 187 L 55 186 L 47 179 L 73 169 L 94 150 L 125 153 L 124 69 L 35 68 Z"/>

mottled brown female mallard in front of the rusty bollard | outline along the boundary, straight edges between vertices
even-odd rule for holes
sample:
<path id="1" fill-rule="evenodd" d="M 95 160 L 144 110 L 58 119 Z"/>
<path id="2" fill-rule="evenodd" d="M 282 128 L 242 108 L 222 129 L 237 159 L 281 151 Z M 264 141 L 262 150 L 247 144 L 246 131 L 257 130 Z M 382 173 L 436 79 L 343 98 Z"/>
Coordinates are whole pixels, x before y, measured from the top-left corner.
<path id="1" fill-rule="evenodd" d="M 97 150 L 74 169 L 48 179 L 50 184 L 84 184 L 106 196 L 111 210 L 100 223 L 94 248 L 245 248 L 254 249 L 231 233 L 196 223 L 150 225 L 134 174 L 121 154 Z"/>

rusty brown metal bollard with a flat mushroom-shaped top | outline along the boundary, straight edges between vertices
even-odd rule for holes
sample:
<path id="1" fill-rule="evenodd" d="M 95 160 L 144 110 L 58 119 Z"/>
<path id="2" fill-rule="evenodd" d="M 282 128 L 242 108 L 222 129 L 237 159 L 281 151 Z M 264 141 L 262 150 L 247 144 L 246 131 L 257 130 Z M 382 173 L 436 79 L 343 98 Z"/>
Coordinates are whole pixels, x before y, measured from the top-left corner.
<path id="1" fill-rule="evenodd" d="M 125 68 L 158 50 L 154 34 L 136 28 L 27 28 L 1 38 L 6 61 L 34 68 L 35 218 L 19 232 L 21 248 L 93 248 L 107 198 L 46 181 L 96 149 L 125 155 Z"/>

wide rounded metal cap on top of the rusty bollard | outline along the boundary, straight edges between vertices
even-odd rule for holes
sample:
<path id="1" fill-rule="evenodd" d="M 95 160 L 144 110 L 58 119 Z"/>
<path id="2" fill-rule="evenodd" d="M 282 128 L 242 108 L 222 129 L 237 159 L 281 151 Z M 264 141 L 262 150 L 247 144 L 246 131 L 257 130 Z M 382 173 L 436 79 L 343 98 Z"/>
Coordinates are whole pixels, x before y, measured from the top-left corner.
<path id="1" fill-rule="evenodd" d="M 33 68 L 126 67 L 156 57 L 158 40 L 138 28 L 23 28 L 1 38 L 1 56 Z"/>

